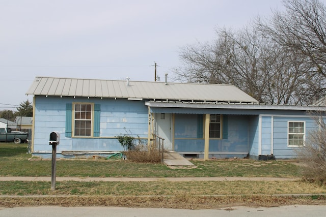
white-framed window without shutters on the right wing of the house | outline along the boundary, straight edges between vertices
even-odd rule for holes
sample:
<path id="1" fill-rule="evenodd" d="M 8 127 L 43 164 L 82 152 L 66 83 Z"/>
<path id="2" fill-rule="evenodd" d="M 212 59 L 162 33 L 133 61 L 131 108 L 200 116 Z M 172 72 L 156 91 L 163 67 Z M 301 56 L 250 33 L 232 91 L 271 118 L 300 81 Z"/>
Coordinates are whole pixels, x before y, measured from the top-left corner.
<path id="1" fill-rule="evenodd" d="M 288 146 L 299 147 L 305 145 L 305 122 L 288 122 Z"/>

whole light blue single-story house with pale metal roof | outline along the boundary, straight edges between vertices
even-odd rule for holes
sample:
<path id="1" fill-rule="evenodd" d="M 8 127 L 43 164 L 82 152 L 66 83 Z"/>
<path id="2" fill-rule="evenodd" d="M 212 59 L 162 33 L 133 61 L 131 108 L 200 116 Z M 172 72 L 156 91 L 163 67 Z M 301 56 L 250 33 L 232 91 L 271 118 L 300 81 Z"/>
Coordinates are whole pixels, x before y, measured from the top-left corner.
<path id="1" fill-rule="evenodd" d="M 164 138 L 165 149 L 209 159 L 295 158 L 316 129 L 321 106 L 259 104 L 233 85 L 37 77 L 32 152 L 49 157 L 49 134 L 61 134 L 62 151 L 120 151 L 116 136 L 148 142 Z"/>

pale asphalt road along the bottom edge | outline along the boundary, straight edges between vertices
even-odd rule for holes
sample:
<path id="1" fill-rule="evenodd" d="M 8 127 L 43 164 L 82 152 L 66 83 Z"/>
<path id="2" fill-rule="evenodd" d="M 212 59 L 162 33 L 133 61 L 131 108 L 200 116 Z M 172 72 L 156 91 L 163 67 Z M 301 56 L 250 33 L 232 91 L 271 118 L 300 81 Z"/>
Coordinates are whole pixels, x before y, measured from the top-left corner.
<path id="1" fill-rule="evenodd" d="M 0 207 L 0 216 L 24 216 L 24 217 L 83 217 L 83 216 L 116 216 L 116 217 L 149 217 L 149 216 L 326 216 L 326 205 L 297 205 L 281 207 L 228 207 L 223 209 L 161 209 L 161 208 L 123 208 L 123 207 L 59 207 L 59 206 L 38 206 L 38 207 Z"/>

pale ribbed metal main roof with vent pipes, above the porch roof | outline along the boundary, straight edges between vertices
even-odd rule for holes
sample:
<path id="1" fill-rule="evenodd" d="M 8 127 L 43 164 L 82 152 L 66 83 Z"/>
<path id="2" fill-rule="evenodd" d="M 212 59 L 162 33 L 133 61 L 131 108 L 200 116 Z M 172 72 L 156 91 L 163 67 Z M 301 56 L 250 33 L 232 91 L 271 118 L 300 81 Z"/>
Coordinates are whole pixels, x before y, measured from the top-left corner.
<path id="1" fill-rule="evenodd" d="M 36 77 L 27 95 L 258 103 L 234 85 Z"/>

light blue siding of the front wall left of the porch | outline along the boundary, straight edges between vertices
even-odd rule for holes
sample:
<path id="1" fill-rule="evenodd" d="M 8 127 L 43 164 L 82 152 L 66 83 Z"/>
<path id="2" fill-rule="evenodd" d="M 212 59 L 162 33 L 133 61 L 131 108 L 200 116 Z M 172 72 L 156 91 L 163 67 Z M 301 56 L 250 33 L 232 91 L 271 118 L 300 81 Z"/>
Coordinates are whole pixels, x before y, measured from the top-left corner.
<path id="1" fill-rule="evenodd" d="M 87 102 L 97 105 L 100 112 L 95 112 L 98 118 L 99 129 L 94 127 L 94 138 L 74 138 L 66 136 L 67 119 L 66 104 L 73 102 Z M 96 115 L 99 115 L 100 117 Z M 95 121 L 96 122 L 96 121 Z M 99 131 L 98 131 L 99 130 Z M 130 134 L 134 137 L 147 138 L 148 134 L 148 108 L 142 101 L 128 101 L 123 99 L 87 99 L 71 97 L 35 97 L 35 129 L 34 152 L 50 152 L 48 144 L 49 134 L 59 131 L 61 134 L 60 145 L 57 150 L 122 150 L 115 136 Z"/>

